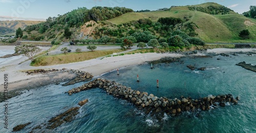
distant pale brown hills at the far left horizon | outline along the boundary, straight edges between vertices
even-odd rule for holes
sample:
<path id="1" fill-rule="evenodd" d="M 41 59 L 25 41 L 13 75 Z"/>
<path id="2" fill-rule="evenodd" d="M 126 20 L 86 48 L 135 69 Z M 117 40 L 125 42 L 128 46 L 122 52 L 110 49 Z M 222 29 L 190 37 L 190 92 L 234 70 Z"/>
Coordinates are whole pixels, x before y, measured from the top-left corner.
<path id="1" fill-rule="evenodd" d="M 41 21 L 0 21 L 1 29 L 5 29 L 0 32 L 0 35 L 13 33 L 19 27 L 25 29 L 28 25 L 35 25 L 38 23 L 41 23 Z"/>

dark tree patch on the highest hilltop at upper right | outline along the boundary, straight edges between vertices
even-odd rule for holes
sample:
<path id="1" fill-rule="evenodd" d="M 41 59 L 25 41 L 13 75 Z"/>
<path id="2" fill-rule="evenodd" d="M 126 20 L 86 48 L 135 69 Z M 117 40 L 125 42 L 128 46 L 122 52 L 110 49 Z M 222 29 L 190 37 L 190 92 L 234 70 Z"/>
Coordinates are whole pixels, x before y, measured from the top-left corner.
<path id="1" fill-rule="evenodd" d="M 208 7 L 188 7 L 189 10 L 191 11 L 201 11 L 204 13 L 208 14 L 219 14 L 221 13 L 222 15 L 229 13 L 229 11 L 233 11 L 227 7 L 224 6 L 208 6 Z"/>

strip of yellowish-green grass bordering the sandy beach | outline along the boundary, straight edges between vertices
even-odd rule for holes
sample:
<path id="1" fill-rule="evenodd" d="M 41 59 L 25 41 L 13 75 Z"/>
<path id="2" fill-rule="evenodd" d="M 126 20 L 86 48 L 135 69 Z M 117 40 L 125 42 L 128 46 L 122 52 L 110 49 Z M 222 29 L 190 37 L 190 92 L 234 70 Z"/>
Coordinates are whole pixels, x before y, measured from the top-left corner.
<path id="1" fill-rule="evenodd" d="M 47 65 L 57 65 L 57 64 L 67 64 L 73 62 L 81 62 L 86 60 L 91 60 L 99 58 L 101 56 L 121 52 L 122 50 L 96 50 L 96 51 L 87 51 L 80 53 L 67 53 L 67 54 L 56 54 L 56 55 L 41 55 L 38 56 L 31 66 L 47 66 Z"/>

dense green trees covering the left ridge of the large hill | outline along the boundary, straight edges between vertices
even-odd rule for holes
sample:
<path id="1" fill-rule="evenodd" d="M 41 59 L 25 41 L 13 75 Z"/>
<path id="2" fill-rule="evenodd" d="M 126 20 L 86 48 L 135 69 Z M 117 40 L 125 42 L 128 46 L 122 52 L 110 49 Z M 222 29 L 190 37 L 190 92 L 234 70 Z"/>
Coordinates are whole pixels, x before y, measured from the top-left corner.
<path id="1" fill-rule="evenodd" d="M 80 7 L 72 10 L 58 17 L 49 17 L 46 22 L 39 23 L 37 25 L 27 26 L 25 31 L 30 32 L 37 30 L 39 33 L 45 33 L 49 29 L 62 30 L 65 27 L 79 27 L 84 23 L 94 21 L 104 21 L 111 18 L 120 16 L 127 12 L 133 12 L 132 9 L 124 7 L 93 7 L 87 9 L 86 7 Z"/>

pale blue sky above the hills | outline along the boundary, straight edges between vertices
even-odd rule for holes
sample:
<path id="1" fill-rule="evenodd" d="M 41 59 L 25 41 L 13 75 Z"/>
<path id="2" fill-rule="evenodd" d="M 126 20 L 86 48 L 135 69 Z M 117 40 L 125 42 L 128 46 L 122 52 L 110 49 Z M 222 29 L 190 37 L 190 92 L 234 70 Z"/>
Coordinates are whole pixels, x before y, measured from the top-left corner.
<path id="1" fill-rule="evenodd" d="M 126 7 L 137 10 L 157 10 L 171 6 L 197 5 L 215 2 L 242 14 L 249 11 L 255 0 L 0 0 L 0 21 L 33 20 L 45 21 L 48 17 L 65 14 L 86 7 Z"/>

